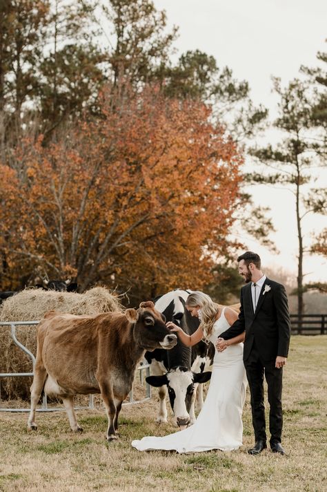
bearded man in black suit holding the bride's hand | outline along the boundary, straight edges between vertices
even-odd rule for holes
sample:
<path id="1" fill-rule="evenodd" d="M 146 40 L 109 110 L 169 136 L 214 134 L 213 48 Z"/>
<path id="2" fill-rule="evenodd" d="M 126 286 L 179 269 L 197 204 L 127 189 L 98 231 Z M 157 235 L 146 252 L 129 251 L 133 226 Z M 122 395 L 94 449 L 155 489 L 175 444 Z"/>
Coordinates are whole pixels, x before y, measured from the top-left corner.
<path id="1" fill-rule="evenodd" d="M 290 315 L 283 285 L 274 282 L 261 272 L 258 254 L 246 252 L 237 258 L 239 274 L 246 285 L 241 288 L 241 308 L 235 323 L 221 333 L 217 348 L 224 350 L 226 340 L 246 332 L 244 341 L 244 366 L 250 387 L 252 424 L 255 430 L 255 446 L 248 450 L 258 455 L 266 444 L 266 420 L 264 413 L 264 376 L 268 384 L 270 404 L 270 448 L 273 453 L 285 454 L 281 446 L 283 415 L 281 388 L 283 366 L 290 343 Z"/>

